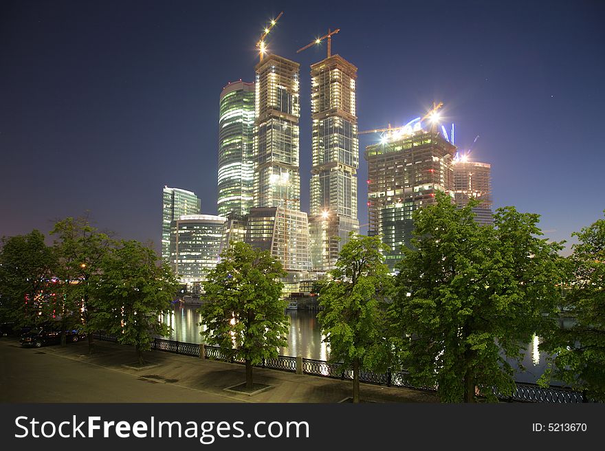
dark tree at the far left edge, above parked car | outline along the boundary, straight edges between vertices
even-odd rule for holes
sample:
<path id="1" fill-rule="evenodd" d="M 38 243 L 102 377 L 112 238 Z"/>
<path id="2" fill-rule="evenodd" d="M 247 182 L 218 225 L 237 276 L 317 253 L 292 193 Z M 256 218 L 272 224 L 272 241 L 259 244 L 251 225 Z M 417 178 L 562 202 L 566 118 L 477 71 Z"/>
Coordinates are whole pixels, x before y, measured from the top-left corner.
<path id="1" fill-rule="evenodd" d="M 56 256 L 44 234 L 3 236 L 0 244 L 1 318 L 21 326 L 50 320 Z"/>

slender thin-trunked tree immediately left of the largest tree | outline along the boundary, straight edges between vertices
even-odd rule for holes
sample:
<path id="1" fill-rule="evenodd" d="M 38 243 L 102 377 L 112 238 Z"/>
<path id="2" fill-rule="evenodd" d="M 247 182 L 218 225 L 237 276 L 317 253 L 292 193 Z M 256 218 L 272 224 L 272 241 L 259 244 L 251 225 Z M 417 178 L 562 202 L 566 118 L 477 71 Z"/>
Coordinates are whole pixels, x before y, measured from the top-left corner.
<path id="1" fill-rule="evenodd" d="M 330 345 L 330 360 L 353 368 L 353 402 L 360 400 L 359 373 L 374 366 L 384 353 L 384 296 L 389 286 L 388 267 L 380 236 L 354 232 L 342 246 L 331 281 L 319 295 L 318 320 Z M 382 349 L 381 349 L 382 348 Z"/>

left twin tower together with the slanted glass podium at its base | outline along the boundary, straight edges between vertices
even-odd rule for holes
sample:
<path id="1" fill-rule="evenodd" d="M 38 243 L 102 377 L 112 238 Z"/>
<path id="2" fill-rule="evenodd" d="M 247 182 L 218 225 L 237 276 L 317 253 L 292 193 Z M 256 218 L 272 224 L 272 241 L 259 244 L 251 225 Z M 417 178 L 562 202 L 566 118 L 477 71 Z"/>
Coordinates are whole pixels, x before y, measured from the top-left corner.
<path id="1" fill-rule="evenodd" d="M 311 269 L 307 213 L 300 211 L 298 67 L 273 54 L 255 67 L 254 208 L 246 235 L 270 250 L 289 280 Z"/>

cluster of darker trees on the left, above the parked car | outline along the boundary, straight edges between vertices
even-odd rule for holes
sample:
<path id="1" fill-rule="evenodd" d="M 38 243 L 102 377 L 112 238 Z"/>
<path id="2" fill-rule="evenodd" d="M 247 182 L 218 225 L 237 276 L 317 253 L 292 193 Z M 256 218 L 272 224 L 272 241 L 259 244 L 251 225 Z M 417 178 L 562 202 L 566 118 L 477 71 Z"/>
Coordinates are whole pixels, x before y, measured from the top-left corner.
<path id="1" fill-rule="evenodd" d="M 112 239 L 87 217 L 58 221 L 51 234 L 53 245 L 39 230 L 2 238 L 1 320 L 17 327 L 77 327 L 87 333 L 89 351 L 92 333 L 107 331 L 133 344 L 142 363 L 153 338 L 168 333 L 158 316 L 178 289 L 170 268 L 151 246 Z"/>

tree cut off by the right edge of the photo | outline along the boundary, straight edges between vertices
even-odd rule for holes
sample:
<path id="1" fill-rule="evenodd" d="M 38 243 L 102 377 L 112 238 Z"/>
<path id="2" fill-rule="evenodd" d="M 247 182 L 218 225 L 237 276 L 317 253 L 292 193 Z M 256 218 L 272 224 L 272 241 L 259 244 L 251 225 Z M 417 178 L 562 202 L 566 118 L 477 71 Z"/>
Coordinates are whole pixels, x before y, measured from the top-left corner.
<path id="1" fill-rule="evenodd" d="M 605 401 L 605 219 L 573 236 L 578 242 L 568 259 L 566 314 L 575 317 L 575 324 L 551 329 L 540 344 L 553 355 L 540 383 L 554 377 Z"/>

